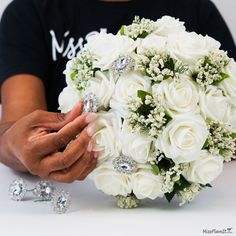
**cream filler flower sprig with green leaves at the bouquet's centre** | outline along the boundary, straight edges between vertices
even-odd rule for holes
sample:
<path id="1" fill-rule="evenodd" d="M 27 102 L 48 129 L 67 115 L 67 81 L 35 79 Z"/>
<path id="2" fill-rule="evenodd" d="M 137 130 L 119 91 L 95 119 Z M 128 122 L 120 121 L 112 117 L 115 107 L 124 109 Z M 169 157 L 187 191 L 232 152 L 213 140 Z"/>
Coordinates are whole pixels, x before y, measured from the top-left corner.
<path id="1" fill-rule="evenodd" d="M 138 91 L 138 97 L 128 101 L 129 127 L 133 132 L 140 132 L 157 138 L 171 120 L 161 105 L 159 97 L 145 91 Z"/>

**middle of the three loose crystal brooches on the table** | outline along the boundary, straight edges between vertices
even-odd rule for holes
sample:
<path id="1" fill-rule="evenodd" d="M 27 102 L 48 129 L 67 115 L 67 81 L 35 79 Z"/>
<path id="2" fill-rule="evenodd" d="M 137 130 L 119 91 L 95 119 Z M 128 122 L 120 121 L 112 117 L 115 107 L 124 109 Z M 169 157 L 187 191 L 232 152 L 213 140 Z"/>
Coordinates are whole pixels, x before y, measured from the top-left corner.
<path id="1" fill-rule="evenodd" d="M 41 200 L 50 200 L 54 192 L 54 186 L 50 181 L 39 181 L 34 189 L 34 195 Z"/>

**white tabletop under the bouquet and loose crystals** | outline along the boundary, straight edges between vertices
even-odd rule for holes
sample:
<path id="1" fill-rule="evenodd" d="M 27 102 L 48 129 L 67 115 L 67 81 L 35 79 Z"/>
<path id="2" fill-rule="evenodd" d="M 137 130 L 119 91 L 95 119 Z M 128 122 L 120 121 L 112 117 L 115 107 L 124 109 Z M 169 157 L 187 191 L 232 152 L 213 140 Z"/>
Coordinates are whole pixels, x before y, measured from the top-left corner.
<path id="1" fill-rule="evenodd" d="M 58 185 L 69 190 L 71 211 L 55 215 L 45 203 L 8 199 L 9 183 L 17 176 L 0 165 L 0 235 L 1 236 L 197 236 L 203 229 L 233 228 L 236 235 L 236 161 L 225 165 L 224 173 L 189 205 L 178 207 L 164 199 L 144 201 L 142 206 L 122 210 L 112 197 L 95 190 L 90 182 Z M 22 176 L 30 186 L 34 177 Z M 217 234 L 223 235 L 223 234 Z"/>

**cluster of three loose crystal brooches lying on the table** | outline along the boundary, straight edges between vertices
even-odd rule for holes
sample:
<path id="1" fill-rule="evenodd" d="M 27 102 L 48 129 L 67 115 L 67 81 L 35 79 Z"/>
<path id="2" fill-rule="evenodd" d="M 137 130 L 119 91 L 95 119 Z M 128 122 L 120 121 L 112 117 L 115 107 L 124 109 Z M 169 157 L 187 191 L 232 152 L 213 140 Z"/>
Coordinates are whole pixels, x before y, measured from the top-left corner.
<path id="1" fill-rule="evenodd" d="M 25 181 L 18 178 L 9 186 L 9 195 L 14 201 L 23 200 L 28 193 L 36 197 L 35 202 L 51 202 L 53 211 L 58 214 L 65 213 L 71 205 L 70 194 L 64 190 L 57 190 L 50 181 L 41 180 L 33 189 L 27 189 Z"/>

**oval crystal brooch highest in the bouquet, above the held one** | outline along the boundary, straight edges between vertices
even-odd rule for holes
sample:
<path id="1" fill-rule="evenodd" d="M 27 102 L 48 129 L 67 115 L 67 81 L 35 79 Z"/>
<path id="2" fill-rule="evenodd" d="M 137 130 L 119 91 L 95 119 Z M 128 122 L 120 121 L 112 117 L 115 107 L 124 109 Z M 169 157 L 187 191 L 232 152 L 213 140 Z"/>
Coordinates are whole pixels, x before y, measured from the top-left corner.
<path id="1" fill-rule="evenodd" d="M 133 59 L 130 56 L 120 56 L 113 63 L 113 71 L 117 74 L 122 74 L 130 71 L 134 67 Z"/>

